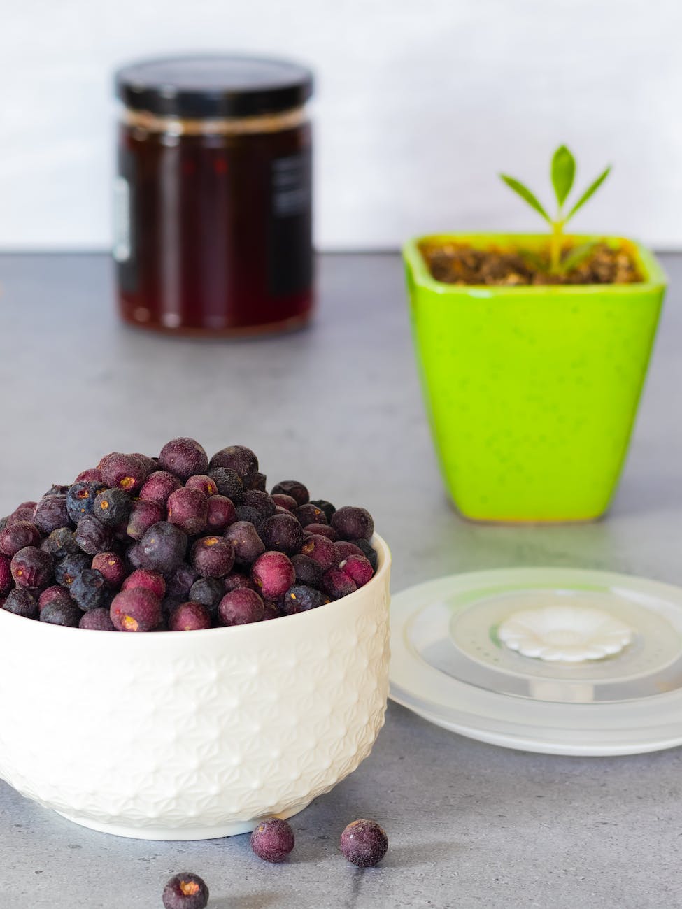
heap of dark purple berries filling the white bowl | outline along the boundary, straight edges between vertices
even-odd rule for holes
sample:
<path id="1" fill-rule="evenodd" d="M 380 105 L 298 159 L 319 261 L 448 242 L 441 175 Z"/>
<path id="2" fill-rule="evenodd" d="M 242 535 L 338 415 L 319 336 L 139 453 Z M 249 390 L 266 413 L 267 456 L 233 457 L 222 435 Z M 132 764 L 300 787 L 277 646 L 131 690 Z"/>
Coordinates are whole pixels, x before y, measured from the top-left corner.
<path id="1" fill-rule="evenodd" d="M 106 454 L 0 520 L 0 606 L 97 631 L 195 631 L 315 609 L 376 570 L 365 508 L 266 493 L 256 454 Z"/>

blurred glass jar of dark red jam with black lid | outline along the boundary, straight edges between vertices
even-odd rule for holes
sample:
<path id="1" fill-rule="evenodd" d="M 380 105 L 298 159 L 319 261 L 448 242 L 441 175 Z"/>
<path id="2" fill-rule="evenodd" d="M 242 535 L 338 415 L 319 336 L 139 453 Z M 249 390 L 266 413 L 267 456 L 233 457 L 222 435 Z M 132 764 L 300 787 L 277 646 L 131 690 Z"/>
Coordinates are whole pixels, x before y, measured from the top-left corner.
<path id="1" fill-rule="evenodd" d="M 304 324 L 313 304 L 312 76 L 277 60 L 126 66 L 114 257 L 126 322 L 232 335 Z"/>

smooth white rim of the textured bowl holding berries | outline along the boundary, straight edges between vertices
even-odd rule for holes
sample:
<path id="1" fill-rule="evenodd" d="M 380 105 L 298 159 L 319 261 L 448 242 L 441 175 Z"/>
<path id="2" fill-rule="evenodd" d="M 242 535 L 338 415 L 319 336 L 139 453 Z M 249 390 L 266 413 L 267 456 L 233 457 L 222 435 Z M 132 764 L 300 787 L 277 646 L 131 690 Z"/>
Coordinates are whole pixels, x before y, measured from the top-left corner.
<path id="1" fill-rule="evenodd" d="M 373 534 L 371 539 L 368 542 L 371 543 L 374 546 L 374 548 L 376 549 L 376 554 L 378 557 L 378 564 L 376 565 L 376 572 L 372 575 L 372 577 L 369 579 L 369 581 L 367 581 L 366 584 L 363 584 L 362 587 L 358 587 L 357 590 L 353 591 L 352 594 L 347 594 L 346 596 L 342 596 L 339 600 L 333 600 L 331 603 L 326 603 L 323 606 L 318 606 L 317 609 L 311 609 L 305 613 L 296 613 L 293 615 L 279 615 L 279 616 L 277 616 L 276 620 L 273 619 L 271 621 L 272 622 L 287 621 L 289 623 L 291 623 L 292 621 L 300 621 L 300 620 L 306 621 L 306 616 L 308 616 L 310 614 L 313 614 L 313 615 L 319 614 L 319 611 L 321 609 L 324 609 L 325 612 L 327 612 L 330 609 L 338 611 L 340 609 L 345 608 L 345 606 L 347 607 L 349 601 L 352 600 L 353 602 L 356 602 L 359 599 L 359 597 L 363 594 L 363 592 L 366 591 L 369 587 L 371 587 L 373 585 L 377 586 L 378 584 L 382 584 L 384 582 L 386 575 L 388 574 L 388 572 L 390 570 L 391 551 L 388 548 L 388 545 L 386 544 L 386 540 L 383 537 L 379 536 L 379 534 Z M 78 632 L 78 633 L 90 632 L 92 634 L 99 634 L 100 637 L 102 637 L 105 641 L 112 641 L 112 640 L 115 640 L 116 638 L 121 637 L 121 638 L 129 638 L 134 641 L 136 640 L 136 641 L 148 641 L 149 642 L 149 644 L 137 644 L 137 646 L 163 646 L 164 642 L 166 644 L 170 643 L 169 638 L 168 638 L 169 634 L 172 634 L 172 637 L 170 639 L 172 641 L 175 641 L 176 639 L 186 640 L 186 638 L 180 637 L 180 634 L 181 634 L 180 632 L 168 632 L 168 633 L 164 633 L 164 634 L 154 633 L 154 632 L 146 632 L 145 634 L 125 634 L 125 632 L 119 632 L 119 633 L 114 633 L 114 634 L 107 633 L 107 632 L 103 633 L 101 631 L 97 631 L 94 628 L 72 628 L 72 627 L 65 626 L 65 625 L 57 625 L 57 624 L 51 624 L 49 622 L 41 622 L 39 619 L 26 619 L 24 615 L 16 615 L 15 613 L 7 612 L 6 609 L 0 609 L 0 628 L 2 628 L 3 622 L 11 623 L 13 621 L 22 622 L 22 623 L 25 623 L 26 625 L 27 624 L 38 625 L 41 628 L 45 629 L 44 632 L 38 632 L 38 634 L 53 634 L 53 633 L 74 634 L 75 632 Z M 268 621 L 268 622 L 251 622 L 251 623 L 242 624 L 242 625 L 229 625 L 229 626 L 223 626 L 220 628 L 202 628 L 202 629 L 199 629 L 196 631 L 192 631 L 191 632 L 192 637 L 190 640 L 196 641 L 196 640 L 199 640 L 200 637 L 207 638 L 210 635 L 213 638 L 216 636 L 216 634 L 225 634 L 228 627 L 231 629 L 231 632 L 233 634 L 233 639 L 234 639 L 234 635 L 236 635 L 236 634 L 246 634 L 246 632 L 249 632 L 249 631 L 253 634 L 254 628 L 260 628 L 260 627 L 269 628 L 270 625 L 271 625 L 271 622 Z M 161 643 L 154 644 L 152 642 L 161 642 Z M 115 644 L 115 646 L 120 646 L 120 644 Z M 129 644 L 127 646 L 129 646 Z"/>

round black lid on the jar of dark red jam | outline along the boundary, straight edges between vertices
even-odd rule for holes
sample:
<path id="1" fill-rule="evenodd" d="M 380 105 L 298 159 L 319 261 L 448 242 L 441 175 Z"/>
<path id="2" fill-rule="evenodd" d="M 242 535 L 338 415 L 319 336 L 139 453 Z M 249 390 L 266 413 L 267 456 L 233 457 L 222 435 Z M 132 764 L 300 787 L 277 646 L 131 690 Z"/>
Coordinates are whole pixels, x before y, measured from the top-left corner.
<path id="1" fill-rule="evenodd" d="M 115 90 L 127 107 L 161 116 L 256 116 L 305 104 L 313 74 L 273 57 L 157 57 L 119 69 Z"/>

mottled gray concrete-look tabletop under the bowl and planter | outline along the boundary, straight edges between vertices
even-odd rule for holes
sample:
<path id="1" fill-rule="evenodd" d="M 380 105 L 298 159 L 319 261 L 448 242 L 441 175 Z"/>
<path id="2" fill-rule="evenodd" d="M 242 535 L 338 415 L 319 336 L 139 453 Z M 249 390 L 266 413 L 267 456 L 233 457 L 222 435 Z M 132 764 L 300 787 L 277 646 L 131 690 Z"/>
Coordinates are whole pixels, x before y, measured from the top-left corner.
<path id="1" fill-rule="evenodd" d="M 311 330 L 201 343 L 119 325 L 105 256 L 0 256 L 0 514 L 106 451 L 154 453 L 168 437 L 194 435 L 208 449 L 250 445 L 274 482 L 299 476 L 317 496 L 366 504 L 393 549 L 394 591 L 506 565 L 682 583 L 682 260 L 666 259 L 673 289 L 611 514 L 555 527 L 456 516 L 416 385 L 397 256 L 319 265 Z M 0 784 L 0 907 L 152 909 L 178 870 L 206 877 L 212 909 L 678 906 L 681 790 L 679 749 L 523 754 L 390 705 L 373 754 L 294 819 L 296 852 L 282 866 L 258 862 L 246 836 L 183 844 L 95 834 Z M 366 872 L 336 852 L 358 816 L 384 824 L 391 842 Z"/>

